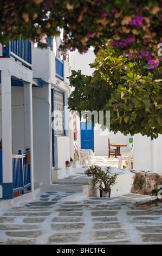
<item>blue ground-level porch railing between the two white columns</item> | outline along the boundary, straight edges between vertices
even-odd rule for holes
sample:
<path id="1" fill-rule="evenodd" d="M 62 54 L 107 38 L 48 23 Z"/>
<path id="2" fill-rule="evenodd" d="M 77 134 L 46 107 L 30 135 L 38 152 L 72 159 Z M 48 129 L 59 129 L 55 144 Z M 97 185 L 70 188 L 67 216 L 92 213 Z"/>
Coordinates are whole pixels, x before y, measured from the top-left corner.
<path id="1" fill-rule="evenodd" d="M 22 191 L 24 194 L 25 189 L 31 189 L 30 163 L 26 153 L 22 154 L 22 150 L 18 152 L 18 155 L 12 155 L 13 192 Z"/>

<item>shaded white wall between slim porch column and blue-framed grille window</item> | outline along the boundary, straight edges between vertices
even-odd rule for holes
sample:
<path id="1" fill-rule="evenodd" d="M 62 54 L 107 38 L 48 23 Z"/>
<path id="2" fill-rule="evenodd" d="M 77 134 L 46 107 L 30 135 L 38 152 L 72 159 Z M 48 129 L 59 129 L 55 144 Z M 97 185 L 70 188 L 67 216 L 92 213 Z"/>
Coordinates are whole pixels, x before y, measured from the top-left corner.
<path id="1" fill-rule="evenodd" d="M 33 88 L 34 181 L 51 183 L 50 85 Z"/>

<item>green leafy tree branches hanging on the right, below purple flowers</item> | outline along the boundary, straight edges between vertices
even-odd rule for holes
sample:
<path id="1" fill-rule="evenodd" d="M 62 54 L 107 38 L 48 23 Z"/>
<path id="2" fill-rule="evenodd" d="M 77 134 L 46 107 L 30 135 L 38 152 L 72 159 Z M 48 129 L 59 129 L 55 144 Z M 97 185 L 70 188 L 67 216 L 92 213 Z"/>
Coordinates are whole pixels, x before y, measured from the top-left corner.
<path id="1" fill-rule="evenodd" d="M 110 128 L 133 136 L 136 133 L 152 139 L 162 133 L 162 66 L 146 64 L 146 56 L 130 59 L 120 55 L 107 42 L 96 56 L 94 76 L 72 70 L 70 86 L 74 88 L 68 99 L 70 110 L 109 111 Z M 93 121 L 95 124 L 95 120 Z M 100 119 L 97 120 L 100 123 Z"/>

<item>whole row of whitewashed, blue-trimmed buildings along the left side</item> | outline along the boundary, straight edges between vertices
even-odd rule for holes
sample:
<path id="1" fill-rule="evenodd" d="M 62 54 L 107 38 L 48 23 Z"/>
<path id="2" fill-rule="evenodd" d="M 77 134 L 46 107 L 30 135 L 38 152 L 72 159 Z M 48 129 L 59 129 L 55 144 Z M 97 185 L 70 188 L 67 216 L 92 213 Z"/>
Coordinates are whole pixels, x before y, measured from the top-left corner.
<path id="1" fill-rule="evenodd" d="M 70 67 L 29 40 L 1 46 L 0 199 L 52 184 L 73 158 L 67 97 Z M 72 117 L 73 122 L 73 117 Z"/>

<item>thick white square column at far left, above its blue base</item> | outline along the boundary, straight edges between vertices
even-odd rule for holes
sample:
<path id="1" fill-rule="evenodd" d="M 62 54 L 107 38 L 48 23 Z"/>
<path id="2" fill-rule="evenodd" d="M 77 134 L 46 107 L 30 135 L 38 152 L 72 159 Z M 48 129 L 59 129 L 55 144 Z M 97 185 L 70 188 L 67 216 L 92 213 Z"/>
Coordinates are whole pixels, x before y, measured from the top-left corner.
<path id="1" fill-rule="evenodd" d="M 11 76 L 1 70 L 2 87 L 2 168 L 3 182 L 12 182 Z"/>

